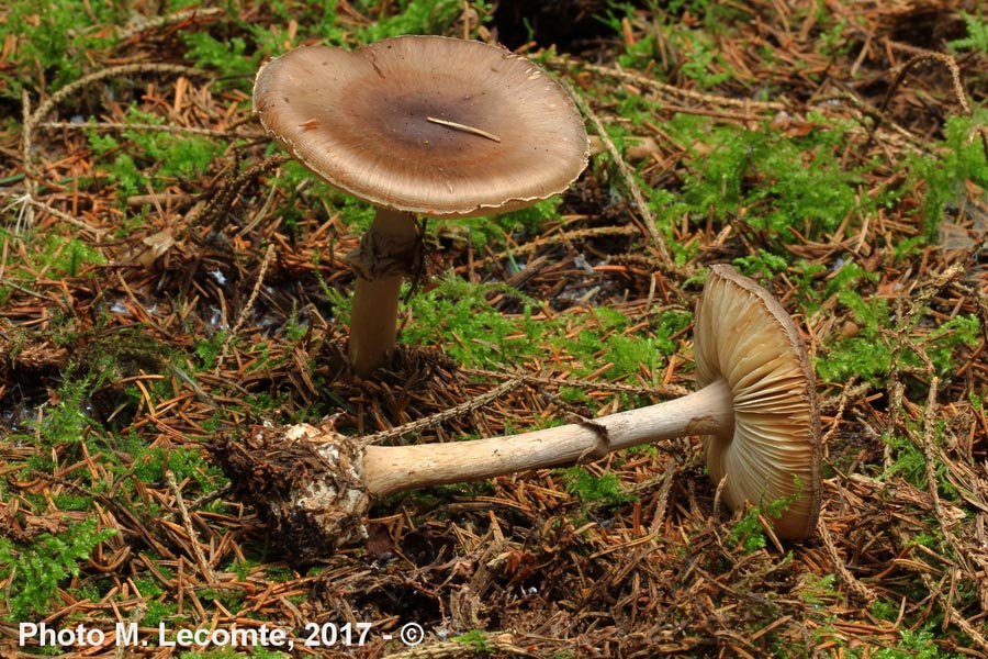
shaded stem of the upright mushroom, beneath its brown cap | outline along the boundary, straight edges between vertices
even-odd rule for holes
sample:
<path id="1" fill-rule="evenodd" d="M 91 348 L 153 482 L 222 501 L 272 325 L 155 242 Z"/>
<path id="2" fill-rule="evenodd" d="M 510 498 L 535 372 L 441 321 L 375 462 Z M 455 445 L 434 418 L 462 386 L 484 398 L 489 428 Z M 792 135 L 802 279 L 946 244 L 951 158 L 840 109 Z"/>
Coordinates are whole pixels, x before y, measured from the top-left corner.
<path id="1" fill-rule="evenodd" d="M 394 347 L 402 281 L 414 264 L 416 241 L 411 213 L 378 209 L 360 247 L 347 255 L 357 272 L 349 357 L 361 378 L 382 366 Z"/>

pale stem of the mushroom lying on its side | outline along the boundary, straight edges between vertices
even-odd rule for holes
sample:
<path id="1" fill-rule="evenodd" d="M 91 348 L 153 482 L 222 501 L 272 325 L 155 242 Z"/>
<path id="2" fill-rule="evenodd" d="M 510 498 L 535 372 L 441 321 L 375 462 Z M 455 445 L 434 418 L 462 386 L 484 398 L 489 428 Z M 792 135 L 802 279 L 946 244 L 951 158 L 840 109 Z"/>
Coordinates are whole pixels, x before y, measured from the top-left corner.
<path id="1" fill-rule="evenodd" d="M 680 399 L 519 435 L 363 449 L 364 491 L 400 490 L 483 480 L 516 471 L 596 460 L 610 451 L 687 435 L 730 438 L 731 391 L 720 379 Z"/>

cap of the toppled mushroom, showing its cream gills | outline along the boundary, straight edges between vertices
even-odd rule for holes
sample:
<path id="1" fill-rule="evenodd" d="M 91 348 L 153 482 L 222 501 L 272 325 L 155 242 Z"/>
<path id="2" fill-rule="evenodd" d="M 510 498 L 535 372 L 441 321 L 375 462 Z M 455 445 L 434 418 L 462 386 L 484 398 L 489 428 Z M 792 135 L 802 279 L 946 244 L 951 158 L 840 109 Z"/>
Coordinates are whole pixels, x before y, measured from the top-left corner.
<path id="1" fill-rule="evenodd" d="M 768 291 L 730 266 L 714 266 L 697 303 L 696 380 L 727 381 L 731 436 L 704 437 L 714 482 L 727 476 L 731 509 L 794 501 L 771 518 L 784 539 L 811 535 L 820 513 L 821 448 L 812 368 L 796 324 Z M 767 515 L 766 515 L 767 516 Z"/>

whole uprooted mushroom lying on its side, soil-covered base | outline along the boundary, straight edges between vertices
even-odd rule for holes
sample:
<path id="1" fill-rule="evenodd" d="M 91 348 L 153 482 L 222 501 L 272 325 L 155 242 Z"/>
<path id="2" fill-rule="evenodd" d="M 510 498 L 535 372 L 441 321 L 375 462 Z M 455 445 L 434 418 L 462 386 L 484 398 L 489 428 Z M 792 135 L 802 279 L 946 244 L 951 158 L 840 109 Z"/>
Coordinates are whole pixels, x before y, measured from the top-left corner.
<path id="1" fill-rule="evenodd" d="M 361 516 L 373 498 L 701 435 L 710 477 L 723 481 L 731 509 L 785 499 L 786 509 L 770 520 L 776 536 L 811 535 L 820 510 L 820 422 L 812 370 L 793 320 L 754 281 L 730 266 L 714 266 L 696 308 L 695 353 L 694 393 L 592 421 L 409 446 L 366 446 L 330 427 L 300 424 L 262 429 L 246 448 L 228 444 L 221 461 L 282 537 L 319 551 L 363 537 Z"/>

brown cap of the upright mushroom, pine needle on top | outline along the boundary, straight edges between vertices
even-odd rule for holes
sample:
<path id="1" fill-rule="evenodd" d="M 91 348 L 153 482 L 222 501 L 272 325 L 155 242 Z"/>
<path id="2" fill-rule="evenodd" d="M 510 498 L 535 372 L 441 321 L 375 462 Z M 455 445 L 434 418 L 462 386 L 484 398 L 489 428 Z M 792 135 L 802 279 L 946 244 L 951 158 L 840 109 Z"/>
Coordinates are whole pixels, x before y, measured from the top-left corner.
<path id="1" fill-rule="evenodd" d="M 258 71 L 254 107 L 318 177 L 411 213 L 530 205 L 565 190 L 590 153 L 580 111 L 538 66 L 442 36 L 295 48 Z"/>

